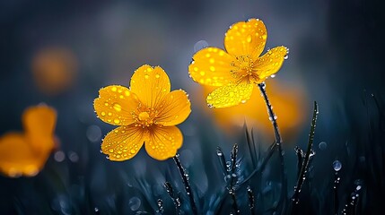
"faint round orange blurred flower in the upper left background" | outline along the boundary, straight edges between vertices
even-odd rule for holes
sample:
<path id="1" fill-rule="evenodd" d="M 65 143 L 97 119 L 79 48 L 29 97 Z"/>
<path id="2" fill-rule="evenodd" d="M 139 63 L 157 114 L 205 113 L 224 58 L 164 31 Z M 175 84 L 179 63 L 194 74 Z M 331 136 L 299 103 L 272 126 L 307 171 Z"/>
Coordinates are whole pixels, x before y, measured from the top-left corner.
<path id="1" fill-rule="evenodd" d="M 77 62 L 74 54 L 64 47 L 46 47 L 32 58 L 34 81 L 43 93 L 54 96 L 74 83 Z"/>

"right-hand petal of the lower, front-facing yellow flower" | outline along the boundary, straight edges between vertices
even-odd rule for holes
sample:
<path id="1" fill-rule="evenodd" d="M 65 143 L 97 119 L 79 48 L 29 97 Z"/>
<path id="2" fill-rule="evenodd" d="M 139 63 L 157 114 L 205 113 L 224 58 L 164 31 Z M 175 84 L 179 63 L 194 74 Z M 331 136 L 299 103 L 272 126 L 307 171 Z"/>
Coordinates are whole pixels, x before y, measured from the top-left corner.
<path id="1" fill-rule="evenodd" d="M 185 121 L 191 112 L 188 94 L 184 90 L 173 90 L 167 94 L 160 105 L 156 121 L 159 125 L 178 125 Z"/>

